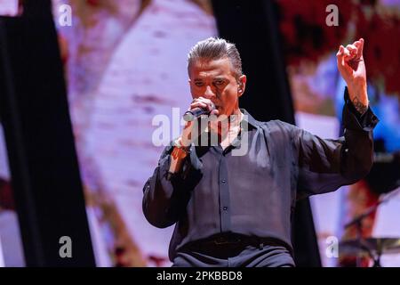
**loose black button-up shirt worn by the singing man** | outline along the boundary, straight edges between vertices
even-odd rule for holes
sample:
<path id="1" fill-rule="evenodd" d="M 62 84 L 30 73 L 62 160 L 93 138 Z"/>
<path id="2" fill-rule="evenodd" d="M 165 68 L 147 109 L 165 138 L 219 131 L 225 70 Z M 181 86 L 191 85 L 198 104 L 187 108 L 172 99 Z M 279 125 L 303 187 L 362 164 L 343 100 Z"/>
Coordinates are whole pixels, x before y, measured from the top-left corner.
<path id="1" fill-rule="evenodd" d="M 359 116 L 345 92 L 344 136 L 321 139 L 279 120 L 260 122 L 242 110 L 247 130 L 223 150 L 194 146 L 178 175 L 168 175 L 172 145 L 143 188 L 148 222 L 175 230 L 170 259 L 182 246 L 234 232 L 281 240 L 292 251 L 296 199 L 356 183 L 372 167 L 372 129 L 378 118 Z M 246 134 L 246 135 L 244 135 Z M 244 155 L 232 155 L 247 142 Z"/>

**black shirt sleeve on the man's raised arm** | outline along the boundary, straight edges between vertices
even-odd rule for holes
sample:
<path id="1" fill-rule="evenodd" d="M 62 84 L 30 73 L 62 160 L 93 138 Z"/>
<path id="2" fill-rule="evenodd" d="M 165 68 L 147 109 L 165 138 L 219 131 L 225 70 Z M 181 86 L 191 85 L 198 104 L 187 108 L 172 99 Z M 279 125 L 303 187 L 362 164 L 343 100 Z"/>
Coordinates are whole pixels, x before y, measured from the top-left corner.
<path id="1" fill-rule="evenodd" d="M 343 136 L 321 139 L 294 128 L 298 155 L 298 198 L 335 191 L 367 175 L 373 162 L 372 130 L 379 122 L 370 107 L 363 115 L 356 111 L 346 88 L 343 107 Z"/>

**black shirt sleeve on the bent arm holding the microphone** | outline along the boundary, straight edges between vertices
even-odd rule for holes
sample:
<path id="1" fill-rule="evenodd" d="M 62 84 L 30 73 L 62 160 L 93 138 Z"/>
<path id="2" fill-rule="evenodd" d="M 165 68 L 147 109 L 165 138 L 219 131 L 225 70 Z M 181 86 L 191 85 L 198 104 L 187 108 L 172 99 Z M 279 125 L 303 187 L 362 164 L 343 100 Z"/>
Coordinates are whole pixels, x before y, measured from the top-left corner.
<path id="1" fill-rule="evenodd" d="M 143 214 L 148 222 L 158 228 L 165 228 L 179 220 L 185 210 L 194 183 L 200 179 L 201 161 L 196 157 L 195 146 L 183 161 L 182 170 L 171 175 L 172 143 L 165 147 L 158 166 L 143 187 Z"/>

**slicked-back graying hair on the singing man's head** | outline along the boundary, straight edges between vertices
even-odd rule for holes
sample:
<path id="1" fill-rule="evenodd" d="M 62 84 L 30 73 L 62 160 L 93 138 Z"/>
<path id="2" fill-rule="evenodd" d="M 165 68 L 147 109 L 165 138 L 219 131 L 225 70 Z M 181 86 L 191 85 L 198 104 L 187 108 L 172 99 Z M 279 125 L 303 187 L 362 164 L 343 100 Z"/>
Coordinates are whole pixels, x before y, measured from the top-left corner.
<path id="1" fill-rule="evenodd" d="M 243 75 L 242 60 L 236 45 L 220 37 L 209 37 L 198 42 L 188 53 L 188 71 L 193 62 L 197 60 L 215 61 L 228 58 L 231 62 L 236 79 Z"/>

